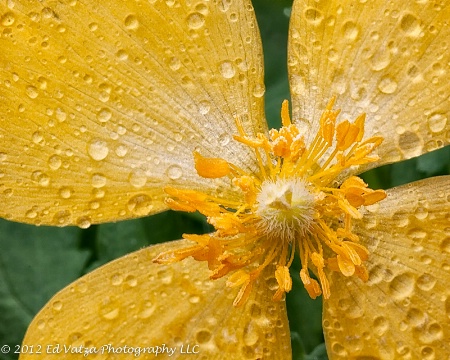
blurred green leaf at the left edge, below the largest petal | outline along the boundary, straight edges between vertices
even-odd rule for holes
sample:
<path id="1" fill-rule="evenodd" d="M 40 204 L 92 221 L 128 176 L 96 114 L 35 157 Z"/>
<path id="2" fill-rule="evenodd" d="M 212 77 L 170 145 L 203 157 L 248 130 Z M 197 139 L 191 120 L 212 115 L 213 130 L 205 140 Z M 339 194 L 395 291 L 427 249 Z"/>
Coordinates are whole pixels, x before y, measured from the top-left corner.
<path id="1" fill-rule="evenodd" d="M 81 231 L 0 220 L 0 345 L 12 351 L 34 315 L 82 273 L 89 253 L 78 249 Z"/>

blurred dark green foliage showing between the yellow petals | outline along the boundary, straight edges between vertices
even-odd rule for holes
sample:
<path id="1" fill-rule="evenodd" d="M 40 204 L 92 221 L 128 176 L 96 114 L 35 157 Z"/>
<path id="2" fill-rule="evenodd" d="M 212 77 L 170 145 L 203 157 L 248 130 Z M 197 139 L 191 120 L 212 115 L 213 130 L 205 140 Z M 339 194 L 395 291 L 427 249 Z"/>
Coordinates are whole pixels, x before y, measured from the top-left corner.
<path id="1" fill-rule="evenodd" d="M 280 105 L 289 99 L 286 44 L 291 0 L 254 0 L 266 63 L 266 113 L 278 127 Z M 371 170 L 364 179 L 373 188 L 390 188 L 448 174 L 450 148 Z M 166 212 L 117 224 L 78 228 L 34 227 L 0 219 L 0 346 L 20 344 L 33 316 L 58 290 L 86 272 L 149 244 L 178 239 L 182 233 L 209 230 L 198 215 Z M 321 300 L 311 300 L 292 269 L 287 296 L 294 359 L 326 359 Z M 0 359 L 15 359 L 13 354 Z"/>

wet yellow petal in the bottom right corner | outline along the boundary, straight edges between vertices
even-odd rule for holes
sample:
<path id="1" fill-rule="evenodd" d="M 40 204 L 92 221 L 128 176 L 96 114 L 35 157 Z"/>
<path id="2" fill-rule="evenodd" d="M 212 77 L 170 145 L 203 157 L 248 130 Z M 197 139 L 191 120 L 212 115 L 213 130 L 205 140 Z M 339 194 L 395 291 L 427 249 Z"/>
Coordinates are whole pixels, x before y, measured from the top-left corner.
<path id="1" fill-rule="evenodd" d="M 449 196 L 450 176 L 422 180 L 388 191 L 354 220 L 369 277 L 330 276 L 323 311 L 330 360 L 448 358 Z"/>

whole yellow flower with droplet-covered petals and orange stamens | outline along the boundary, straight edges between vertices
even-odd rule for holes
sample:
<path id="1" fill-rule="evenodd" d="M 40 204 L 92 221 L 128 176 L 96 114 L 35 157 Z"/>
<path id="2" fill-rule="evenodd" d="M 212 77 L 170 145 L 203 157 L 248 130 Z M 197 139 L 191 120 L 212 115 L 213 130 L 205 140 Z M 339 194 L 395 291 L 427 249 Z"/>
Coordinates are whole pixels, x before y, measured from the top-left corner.
<path id="1" fill-rule="evenodd" d="M 449 5 L 294 1 L 292 117 L 270 132 L 249 1 L 0 11 L 0 215 L 86 228 L 170 207 L 216 229 L 81 278 L 24 344 L 288 359 L 298 251 L 330 359 L 448 356 L 449 177 L 385 198 L 356 175 L 448 144 Z"/>

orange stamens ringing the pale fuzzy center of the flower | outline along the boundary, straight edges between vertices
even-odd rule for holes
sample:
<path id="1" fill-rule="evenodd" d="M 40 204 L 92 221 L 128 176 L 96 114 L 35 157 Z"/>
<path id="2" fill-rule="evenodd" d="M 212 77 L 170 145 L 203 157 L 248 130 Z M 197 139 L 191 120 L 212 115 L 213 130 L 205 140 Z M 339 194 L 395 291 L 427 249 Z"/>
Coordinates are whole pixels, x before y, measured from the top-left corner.
<path id="1" fill-rule="evenodd" d="M 359 208 L 386 197 L 383 190 L 368 188 L 351 176 L 335 187 L 344 170 L 376 161 L 371 155 L 380 137 L 362 140 L 365 115 L 354 123 L 336 125 L 339 110 L 330 101 L 320 118 L 315 138 L 306 146 L 299 129 L 291 123 L 288 103 L 281 108 L 282 128 L 269 136 L 246 135 L 236 119 L 234 139 L 252 148 L 258 171 L 247 173 L 221 158 L 205 158 L 194 152 L 195 169 L 204 178 L 227 177 L 240 199 L 214 196 L 212 192 L 166 188 L 167 205 L 173 210 L 199 211 L 216 231 L 183 235 L 193 245 L 160 254 L 154 261 L 171 263 L 192 256 L 207 261 L 211 278 L 229 275 L 227 286 L 239 286 L 234 305 L 243 304 L 254 281 L 273 266 L 278 283 L 273 299 L 281 300 L 292 287 L 289 267 L 297 252 L 300 278 L 312 298 L 330 297 L 325 269 L 367 281 L 364 261 L 368 250 L 352 233 L 352 219 L 362 217 Z M 310 276 L 310 270 L 317 280 Z"/>

